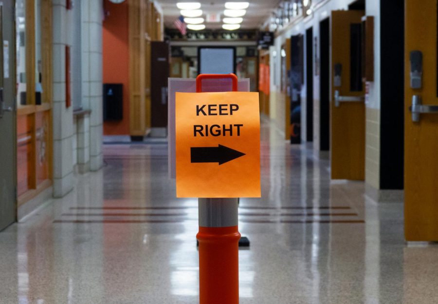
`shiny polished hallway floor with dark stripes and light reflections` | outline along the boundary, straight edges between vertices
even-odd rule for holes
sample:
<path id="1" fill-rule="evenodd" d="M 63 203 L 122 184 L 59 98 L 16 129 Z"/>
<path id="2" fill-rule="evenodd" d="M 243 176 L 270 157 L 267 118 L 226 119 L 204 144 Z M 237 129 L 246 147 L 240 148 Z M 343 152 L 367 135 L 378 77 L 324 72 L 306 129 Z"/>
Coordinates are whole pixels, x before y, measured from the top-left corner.
<path id="1" fill-rule="evenodd" d="M 262 123 L 262 198 L 241 199 L 241 304 L 438 303 L 438 246 L 403 241 L 403 204 Z M 105 145 L 105 167 L 0 233 L 0 303 L 197 303 L 197 200 L 167 145 Z"/>

